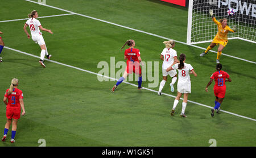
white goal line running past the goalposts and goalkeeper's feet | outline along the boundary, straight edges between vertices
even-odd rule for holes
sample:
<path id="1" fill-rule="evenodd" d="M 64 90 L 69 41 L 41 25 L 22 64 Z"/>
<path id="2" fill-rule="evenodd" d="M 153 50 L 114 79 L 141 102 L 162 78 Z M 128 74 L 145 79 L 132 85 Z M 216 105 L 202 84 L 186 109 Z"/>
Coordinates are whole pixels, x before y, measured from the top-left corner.
<path id="1" fill-rule="evenodd" d="M 34 1 L 30 1 L 30 0 L 25 0 L 25 1 L 28 1 L 28 2 L 32 2 L 32 3 L 36 3 L 36 4 L 39 4 L 39 5 L 42 5 L 42 3 L 39 3 L 39 2 L 34 2 Z M 90 18 L 90 19 L 93 19 L 93 20 L 98 20 L 100 22 L 104 22 L 104 23 L 108 23 L 108 24 L 112 24 L 114 26 L 118 26 L 118 27 L 122 27 L 122 28 L 127 28 L 129 30 L 133 30 L 133 31 L 137 31 L 137 32 L 141 32 L 143 34 L 147 34 L 147 35 L 151 35 L 151 36 L 155 36 L 155 37 L 158 37 L 158 38 L 162 38 L 162 39 L 166 39 L 166 40 L 171 40 L 170 38 L 166 38 L 166 37 L 163 37 L 163 36 L 159 36 L 159 35 L 156 35 L 156 34 L 152 34 L 150 32 L 145 32 L 145 31 L 142 31 L 142 30 L 137 30 L 135 28 L 131 28 L 131 27 L 126 27 L 126 26 L 122 26 L 120 24 L 116 24 L 116 23 L 112 23 L 112 22 L 108 22 L 106 20 L 101 20 L 101 19 L 97 19 L 97 18 L 93 18 L 92 16 L 87 16 L 87 15 L 84 15 L 84 14 L 79 14 L 79 13 L 74 13 L 73 11 L 69 11 L 69 10 L 65 10 L 65 9 L 60 9 L 58 7 L 54 7 L 54 6 L 49 6 L 49 5 L 43 5 L 43 6 L 46 6 L 46 7 L 51 7 L 53 9 L 57 9 L 57 10 L 61 10 L 61 11 L 65 11 L 65 12 L 68 12 L 68 13 L 72 13 L 72 14 L 76 14 L 76 15 L 80 15 L 80 16 L 83 16 L 85 18 Z M 205 48 L 203 47 L 199 47 L 197 45 L 192 45 L 192 44 L 187 44 L 187 43 L 184 43 L 183 41 L 177 41 L 175 40 L 177 43 L 181 43 L 181 44 L 185 44 L 185 45 L 189 45 L 191 47 L 196 47 L 196 48 L 199 48 L 199 49 L 203 49 L 205 50 Z M 210 50 L 210 52 L 214 52 L 214 53 L 217 53 L 216 51 L 212 51 Z M 228 57 L 232 57 L 234 59 L 238 59 L 238 60 L 243 60 L 243 61 L 246 61 L 248 63 L 253 63 L 253 64 L 256 64 L 256 62 L 254 61 L 250 61 L 250 60 L 246 60 L 246 59 L 242 59 L 240 57 L 236 57 L 236 56 L 232 56 L 232 55 L 226 55 L 225 53 L 222 53 L 222 55 L 224 56 L 228 56 Z"/>

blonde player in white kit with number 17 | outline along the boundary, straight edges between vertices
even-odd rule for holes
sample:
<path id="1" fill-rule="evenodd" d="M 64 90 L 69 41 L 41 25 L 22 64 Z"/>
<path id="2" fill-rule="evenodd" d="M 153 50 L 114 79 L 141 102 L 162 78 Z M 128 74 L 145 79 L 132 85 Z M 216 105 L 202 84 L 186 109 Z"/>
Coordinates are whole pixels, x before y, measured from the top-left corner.
<path id="1" fill-rule="evenodd" d="M 174 84 L 177 81 L 177 72 L 176 70 L 170 70 L 169 72 L 166 72 L 166 69 L 170 66 L 179 63 L 177 60 L 177 52 L 172 49 L 175 46 L 174 40 L 168 40 L 163 42 L 166 45 L 166 48 L 163 49 L 160 59 L 163 60 L 162 65 L 162 73 L 163 73 L 163 80 L 160 82 L 158 95 L 162 95 L 162 89 L 167 81 L 167 75 L 169 74 L 172 77 L 172 82 L 170 84 L 171 86 L 171 92 L 174 92 Z"/>

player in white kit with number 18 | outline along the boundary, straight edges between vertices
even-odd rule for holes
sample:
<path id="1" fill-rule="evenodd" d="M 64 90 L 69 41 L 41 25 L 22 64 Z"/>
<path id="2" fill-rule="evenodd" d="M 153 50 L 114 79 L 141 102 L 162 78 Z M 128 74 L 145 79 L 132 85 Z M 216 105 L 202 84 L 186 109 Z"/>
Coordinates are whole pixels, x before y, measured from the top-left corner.
<path id="1" fill-rule="evenodd" d="M 28 14 L 28 17 L 30 19 L 27 20 L 27 22 L 24 24 L 24 31 L 27 34 L 27 38 L 30 38 L 30 34 L 28 34 L 27 32 L 27 27 L 30 28 L 30 32 L 31 32 L 31 36 L 32 36 L 32 40 L 35 41 L 35 43 L 38 43 L 40 48 L 41 48 L 41 55 L 40 55 L 40 60 L 39 63 L 43 66 L 43 68 L 46 67 L 46 65 L 44 65 L 44 56 L 47 56 L 47 59 L 50 59 L 52 55 L 48 54 L 47 48 L 46 48 L 46 43 L 44 42 L 44 38 L 42 35 L 42 32 L 40 32 L 40 30 L 42 31 L 46 31 L 49 32 L 50 34 L 53 34 L 53 32 L 51 30 L 48 30 L 46 28 L 43 28 L 41 23 L 39 22 L 38 19 L 38 12 L 36 10 L 33 10 L 30 14 Z M 40 28 L 40 30 L 39 30 Z"/>

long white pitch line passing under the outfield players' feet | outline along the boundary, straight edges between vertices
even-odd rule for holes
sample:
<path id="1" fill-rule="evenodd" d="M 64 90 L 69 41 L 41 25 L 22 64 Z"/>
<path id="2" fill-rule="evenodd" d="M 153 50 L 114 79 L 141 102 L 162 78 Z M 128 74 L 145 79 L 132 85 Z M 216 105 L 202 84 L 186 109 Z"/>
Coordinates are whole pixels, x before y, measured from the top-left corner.
<path id="1" fill-rule="evenodd" d="M 15 51 L 15 52 L 18 52 L 18 53 L 22 53 L 22 54 L 24 54 L 24 55 L 28 55 L 28 56 L 32 56 L 32 57 L 36 57 L 36 58 L 40 59 L 40 56 L 32 55 L 32 54 L 30 54 L 30 53 L 26 53 L 26 52 L 23 52 L 23 51 L 19 51 L 19 50 L 17 50 L 17 49 L 13 49 L 13 48 L 6 47 L 6 46 L 5 46 L 5 49 L 10 49 L 11 51 Z M 47 60 L 47 61 L 49 61 L 49 62 L 51 62 L 51 63 L 56 63 L 56 64 L 60 64 L 60 65 L 63 65 L 63 66 L 67 66 L 67 67 L 69 67 L 69 68 L 81 70 L 81 71 L 83 71 L 83 72 L 88 72 L 88 73 L 91 73 L 91 74 L 96 74 L 97 76 L 109 78 L 110 80 L 118 81 L 118 79 L 116 79 L 116 78 L 112 78 L 112 77 L 109 77 L 109 76 L 104 76 L 104 75 L 102 75 L 102 74 L 98 74 L 98 73 L 95 73 L 95 72 L 91 72 L 91 71 L 89 71 L 89 70 L 77 68 L 77 67 L 75 67 L 75 66 L 71 66 L 71 65 L 59 63 L 59 62 L 54 61 L 54 60 L 48 60 L 48 59 L 44 59 L 44 60 Z M 132 85 L 132 86 L 136 86 L 136 87 L 138 86 L 138 85 L 135 85 L 135 84 L 131 84 L 131 83 L 129 83 L 129 82 L 126 82 L 126 81 L 123 81 L 123 83 L 129 84 L 129 85 Z M 144 88 L 144 87 L 143 87 L 143 89 L 149 90 L 149 91 L 151 91 L 151 92 L 158 93 L 158 91 L 152 90 L 152 89 L 149 89 L 149 88 Z M 163 94 L 163 95 L 167 95 L 167 96 L 172 97 L 172 98 L 176 98 L 176 96 L 174 96 L 174 95 L 170 95 L 170 94 L 166 94 L 166 93 L 162 93 L 162 94 Z M 183 99 L 183 98 L 180 98 L 180 99 Z M 213 107 L 210 107 L 210 106 L 208 106 L 208 105 L 204 105 L 204 104 L 202 104 L 202 103 L 198 103 L 198 102 L 194 102 L 194 101 L 189 101 L 189 100 L 188 100 L 188 102 L 194 103 L 194 104 L 196 104 L 196 105 L 208 107 L 208 108 L 210 108 L 210 109 L 213 108 Z M 224 113 L 231 114 L 231 115 L 235 115 L 235 116 L 237 116 L 237 117 L 241 117 L 241 118 L 245 118 L 245 119 L 250 119 L 250 120 L 256 121 L 256 119 L 248 118 L 248 117 L 245 117 L 245 116 L 242 116 L 242 115 L 238 115 L 238 114 L 234 114 L 234 113 L 230 113 L 229 111 L 225 111 L 225 110 L 220 110 L 220 111 L 222 111 L 222 112 L 224 112 Z"/>

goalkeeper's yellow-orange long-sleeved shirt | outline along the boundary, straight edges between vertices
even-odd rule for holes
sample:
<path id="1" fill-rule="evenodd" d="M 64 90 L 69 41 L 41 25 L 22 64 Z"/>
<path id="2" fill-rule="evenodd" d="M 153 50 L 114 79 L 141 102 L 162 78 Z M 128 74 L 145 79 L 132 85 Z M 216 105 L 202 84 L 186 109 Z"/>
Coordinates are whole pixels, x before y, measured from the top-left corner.
<path id="1" fill-rule="evenodd" d="M 218 33 L 214 39 L 220 41 L 228 41 L 228 32 L 234 32 L 234 30 L 232 30 L 228 25 L 226 25 L 225 28 L 222 28 L 222 24 L 218 22 L 215 17 L 213 17 L 212 20 L 218 25 Z"/>

